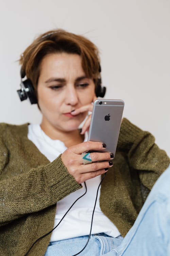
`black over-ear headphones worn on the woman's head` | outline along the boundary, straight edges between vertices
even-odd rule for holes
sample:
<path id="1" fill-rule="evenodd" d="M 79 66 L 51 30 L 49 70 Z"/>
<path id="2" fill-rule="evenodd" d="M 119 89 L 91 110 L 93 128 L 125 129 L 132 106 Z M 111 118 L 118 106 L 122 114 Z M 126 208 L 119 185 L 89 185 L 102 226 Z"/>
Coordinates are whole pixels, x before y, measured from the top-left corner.
<path id="1" fill-rule="evenodd" d="M 99 72 L 101 72 L 101 67 L 99 66 Z M 35 94 L 35 89 L 33 87 L 33 84 L 31 82 L 30 79 L 24 79 L 24 77 L 26 76 L 26 73 L 22 70 L 20 71 L 20 75 L 21 75 L 21 89 L 17 90 L 17 93 L 19 95 L 19 98 L 21 101 L 26 100 L 27 98 L 29 98 L 31 104 L 36 104 L 37 102 L 37 97 Z M 97 79 L 97 86 L 95 89 L 95 94 L 97 97 L 104 97 L 106 93 L 106 87 L 101 85 L 101 78 Z"/>

